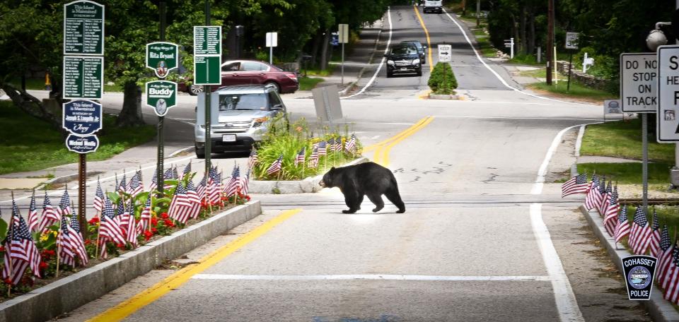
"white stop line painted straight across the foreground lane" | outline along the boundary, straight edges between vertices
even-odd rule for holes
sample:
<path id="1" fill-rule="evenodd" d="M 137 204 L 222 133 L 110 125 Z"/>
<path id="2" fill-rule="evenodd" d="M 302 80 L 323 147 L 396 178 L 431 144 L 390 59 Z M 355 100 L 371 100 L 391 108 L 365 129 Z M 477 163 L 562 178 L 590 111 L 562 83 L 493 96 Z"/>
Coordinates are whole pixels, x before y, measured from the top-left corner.
<path id="1" fill-rule="evenodd" d="M 549 276 L 441 276 L 441 275 L 227 275 L 196 274 L 194 280 L 429 280 L 429 281 L 549 281 Z"/>

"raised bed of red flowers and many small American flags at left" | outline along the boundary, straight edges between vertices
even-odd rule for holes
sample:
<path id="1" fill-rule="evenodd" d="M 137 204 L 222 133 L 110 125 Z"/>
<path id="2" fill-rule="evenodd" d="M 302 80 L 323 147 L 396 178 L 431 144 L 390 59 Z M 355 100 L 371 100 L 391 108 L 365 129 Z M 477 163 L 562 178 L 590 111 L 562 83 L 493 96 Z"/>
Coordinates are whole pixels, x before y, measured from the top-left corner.
<path id="1" fill-rule="evenodd" d="M 163 176 L 165 194 L 157 191 L 155 177 L 149 191 L 144 191 L 141 172 L 134 174 L 129 184 L 123 177 L 116 183 L 116 191 L 103 193 L 98 185 L 93 201 L 98 215 L 85 227 L 79 225 L 66 191 L 54 206 L 45 193 L 40 216 L 34 195 L 28 221 L 13 204 L 11 229 L 0 219 L 0 240 L 4 241 L 0 246 L 0 302 L 250 201 L 249 177 L 241 178 L 234 169 L 222 184 L 217 171 L 212 169 L 195 186 L 196 173 L 190 171 L 190 165 L 181 176 L 176 167 L 168 169 Z M 18 246 L 18 241 L 29 246 Z M 19 256 L 23 249 L 35 250 L 33 261 Z"/>

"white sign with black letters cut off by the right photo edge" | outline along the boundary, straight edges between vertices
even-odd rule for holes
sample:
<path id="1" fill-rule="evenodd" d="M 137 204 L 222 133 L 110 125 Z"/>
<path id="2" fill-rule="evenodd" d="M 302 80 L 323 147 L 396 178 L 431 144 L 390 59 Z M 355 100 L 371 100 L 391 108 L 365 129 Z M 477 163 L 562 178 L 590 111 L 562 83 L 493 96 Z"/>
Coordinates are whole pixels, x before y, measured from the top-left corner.
<path id="1" fill-rule="evenodd" d="M 679 141 L 679 46 L 658 47 L 658 142 Z"/>

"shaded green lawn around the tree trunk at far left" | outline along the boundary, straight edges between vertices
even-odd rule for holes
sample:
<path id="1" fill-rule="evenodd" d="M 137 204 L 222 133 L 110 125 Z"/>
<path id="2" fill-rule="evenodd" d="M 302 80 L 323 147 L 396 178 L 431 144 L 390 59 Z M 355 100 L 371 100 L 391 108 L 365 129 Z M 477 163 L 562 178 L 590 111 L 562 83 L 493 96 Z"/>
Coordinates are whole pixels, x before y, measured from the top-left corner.
<path id="1" fill-rule="evenodd" d="M 105 160 L 146 143 L 156 136 L 156 128 L 117 128 L 115 116 L 104 114 L 103 129 L 97 136 L 100 145 L 96 152 L 88 153 L 89 161 Z M 66 149 L 61 131 L 30 117 L 11 102 L 0 102 L 0 174 L 45 169 L 78 159 L 77 153 Z"/>

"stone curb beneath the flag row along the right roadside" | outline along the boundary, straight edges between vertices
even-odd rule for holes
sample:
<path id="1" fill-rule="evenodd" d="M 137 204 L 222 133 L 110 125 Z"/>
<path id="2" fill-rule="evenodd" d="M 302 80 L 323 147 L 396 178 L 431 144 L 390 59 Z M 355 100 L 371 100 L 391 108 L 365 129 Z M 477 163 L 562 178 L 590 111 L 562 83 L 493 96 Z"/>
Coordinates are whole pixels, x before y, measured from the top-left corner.
<path id="1" fill-rule="evenodd" d="M 601 245 L 603 245 L 603 247 L 606 249 L 606 252 L 608 252 L 608 255 L 613 260 L 613 263 L 615 263 L 617 270 L 619 270 L 622 274 L 623 270 L 621 258 L 630 256 L 632 254 L 629 253 L 627 249 L 615 248 L 615 239 L 608 237 L 608 233 L 604 231 L 605 228 L 603 227 L 603 220 L 601 220 L 601 217 L 598 215 L 598 213 L 595 211 L 588 211 L 584 205 L 580 205 L 579 210 L 587 219 L 587 222 L 592 227 L 594 234 L 596 234 L 596 237 L 599 239 L 599 241 L 601 241 Z M 670 302 L 666 301 L 666 299 L 663 299 L 663 293 L 656 285 L 654 285 L 653 290 L 651 290 L 651 299 L 649 301 L 639 302 L 646 306 L 646 309 L 649 311 L 649 314 L 651 314 L 653 321 L 679 321 L 679 312 L 674 309 Z"/>

